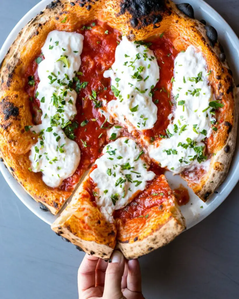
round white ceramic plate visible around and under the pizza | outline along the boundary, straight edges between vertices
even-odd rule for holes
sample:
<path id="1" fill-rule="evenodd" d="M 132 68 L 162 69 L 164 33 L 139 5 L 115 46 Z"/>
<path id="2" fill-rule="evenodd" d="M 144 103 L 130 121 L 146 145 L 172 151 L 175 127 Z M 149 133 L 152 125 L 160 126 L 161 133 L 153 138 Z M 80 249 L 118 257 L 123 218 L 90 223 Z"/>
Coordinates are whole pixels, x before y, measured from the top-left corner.
<path id="1" fill-rule="evenodd" d="M 176 3 L 185 2 L 185 0 L 176 0 Z M 212 25 L 216 28 L 218 33 L 218 40 L 223 45 L 225 49 L 227 61 L 229 66 L 233 71 L 233 77 L 238 83 L 239 79 L 239 39 L 232 30 L 232 28 L 226 23 L 226 21 L 208 4 L 206 4 L 202 0 L 187 0 L 186 2 L 190 3 L 194 8 L 194 14 L 196 19 L 204 19 L 207 24 Z M 4 58 L 7 53 L 8 48 L 13 43 L 15 38 L 17 37 L 19 31 L 33 18 L 38 14 L 41 10 L 43 10 L 47 4 L 49 4 L 49 0 L 43 0 L 39 2 L 35 7 L 33 7 L 15 26 L 12 30 L 4 45 L 0 51 L 0 61 Z M 218 188 L 217 192 L 206 202 L 203 203 L 191 189 L 189 189 L 190 194 L 190 202 L 181 207 L 182 213 L 186 218 L 187 228 L 192 227 L 197 224 L 201 220 L 203 220 L 206 216 L 208 216 L 212 211 L 214 211 L 232 189 L 235 187 L 236 183 L 239 180 L 239 151 L 238 149 L 238 140 L 239 134 L 237 138 L 237 145 L 235 150 L 235 155 L 232 160 L 232 164 L 229 170 L 229 173 L 221 186 Z M 30 195 L 28 195 L 22 186 L 11 176 L 8 170 L 4 167 L 4 164 L 1 163 L 0 170 L 5 180 L 12 188 L 16 196 L 29 208 L 34 214 L 36 214 L 43 221 L 48 224 L 53 223 L 56 219 L 56 216 L 50 214 L 50 212 L 43 212 L 39 208 L 39 203 L 35 202 Z M 172 188 L 178 187 L 179 184 L 183 184 L 186 187 L 186 182 L 184 182 L 180 176 L 172 176 L 170 172 L 166 172 L 166 177 L 169 181 L 169 184 Z"/>

